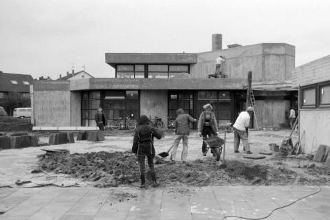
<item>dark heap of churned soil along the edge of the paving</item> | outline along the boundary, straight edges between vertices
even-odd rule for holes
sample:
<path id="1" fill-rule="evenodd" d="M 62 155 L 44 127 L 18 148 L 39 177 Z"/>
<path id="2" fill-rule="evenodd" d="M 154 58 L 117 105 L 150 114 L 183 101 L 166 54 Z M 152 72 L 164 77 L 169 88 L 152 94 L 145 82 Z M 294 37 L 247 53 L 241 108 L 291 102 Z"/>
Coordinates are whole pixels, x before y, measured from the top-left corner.
<path id="1" fill-rule="evenodd" d="M 329 173 L 320 168 L 309 168 L 311 177 L 301 176 L 284 166 L 265 166 L 238 160 L 227 161 L 221 169 L 214 159 L 197 159 L 188 164 L 168 164 L 162 158 L 155 159 L 157 179 L 162 186 L 225 186 L 225 185 L 285 185 L 285 184 L 324 184 Z M 94 181 L 94 186 L 111 187 L 119 184 L 140 182 L 136 156 L 127 152 L 98 152 L 56 157 L 43 156 L 39 160 L 42 170 L 64 173 Z M 146 169 L 147 165 L 146 165 Z M 151 174 L 146 173 L 147 181 Z"/>

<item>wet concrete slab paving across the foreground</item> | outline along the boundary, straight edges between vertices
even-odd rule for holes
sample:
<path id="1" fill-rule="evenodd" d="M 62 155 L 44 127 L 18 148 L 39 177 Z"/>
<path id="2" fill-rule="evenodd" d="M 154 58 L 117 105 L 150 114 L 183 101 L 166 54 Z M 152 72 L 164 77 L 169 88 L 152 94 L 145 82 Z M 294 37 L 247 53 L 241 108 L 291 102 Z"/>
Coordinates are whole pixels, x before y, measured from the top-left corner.
<path id="1" fill-rule="evenodd" d="M 129 191 L 131 190 L 131 191 Z M 118 200 L 118 192 L 137 197 Z M 223 219 L 266 216 L 318 186 L 213 186 L 191 193 L 128 188 L 0 188 L 0 219 Z M 330 219 L 330 187 L 276 210 L 267 219 Z M 227 218 L 237 219 L 237 218 Z"/>

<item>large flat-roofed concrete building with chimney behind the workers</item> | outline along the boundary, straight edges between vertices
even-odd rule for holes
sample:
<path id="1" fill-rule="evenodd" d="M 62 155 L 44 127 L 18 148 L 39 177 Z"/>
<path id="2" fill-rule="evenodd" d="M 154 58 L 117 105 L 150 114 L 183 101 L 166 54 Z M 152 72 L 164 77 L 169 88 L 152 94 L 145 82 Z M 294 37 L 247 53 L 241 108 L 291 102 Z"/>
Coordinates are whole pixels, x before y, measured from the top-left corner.
<path id="1" fill-rule="evenodd" d="M 197 54 L 107 53 L 105 61 L 115 68 L 115 78 L 36 82 L 33 122 L 35 126 L 95 126 L 94 114 L 102 107 L 109 122 L 126 115 L 137 120 L 145 114 L 162 118 L 167 125 L 168 116 L 174 119 L 178 108 L 198 118 L 208 102 L 219 124 L 234 122 L 245 109 L 247 77 L 252 72 L 259 127 L 285 124 L 285 110 L 295 102 L 294 46 L 261 43 L 222 50 L 222 36 L 212 39 L 213 50 Z M 228 78 L 208 78 L 220 55 L 225 56 L 221 72 Z M 45 100 L 48 95 L 54 100 Z M 65 117 L 56 120 L 59 115 L 54 111 Z M 56 115 L 52 122 L 50 115 Z"/>

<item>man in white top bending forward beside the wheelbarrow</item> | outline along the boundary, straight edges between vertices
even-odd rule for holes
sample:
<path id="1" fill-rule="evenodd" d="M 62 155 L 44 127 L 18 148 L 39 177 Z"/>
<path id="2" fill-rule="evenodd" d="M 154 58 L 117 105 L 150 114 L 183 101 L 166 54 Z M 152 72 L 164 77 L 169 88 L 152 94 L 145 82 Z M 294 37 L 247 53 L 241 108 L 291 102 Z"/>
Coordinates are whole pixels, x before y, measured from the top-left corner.
<path id="1" fill-rule="evenodd" d="M 242 140 L 243 148 L 248 154 L 250 151 L 250 144 L 248 142 L 248 128 L 250 126 L 250 113 L 253 112 L 252 107 L 248 107 L 246 111 L 239 113 L 239 117 L 234 124 L 234 153 L 239 153 L 239 142 Z"/>

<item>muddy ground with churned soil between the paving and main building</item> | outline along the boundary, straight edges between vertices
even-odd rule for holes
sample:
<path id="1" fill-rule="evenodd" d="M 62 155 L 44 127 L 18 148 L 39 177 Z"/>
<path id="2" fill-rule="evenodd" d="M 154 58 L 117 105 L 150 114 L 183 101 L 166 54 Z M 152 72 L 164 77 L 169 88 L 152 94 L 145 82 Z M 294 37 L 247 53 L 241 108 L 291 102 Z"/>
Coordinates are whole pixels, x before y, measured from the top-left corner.
<path id="1" fill-rule="evenodd" d="M 250 143 L 254 155 L 268 151 L 270 143 L 281 144 L 289 130 L 251 131 Z M 220 134 L 223 138 L 224 134 Z M 167 132 L 162 140 L 155 140 L 156 153 L 167 151 L 173 144 L 174 134 Z M 292 137 L 296 142 L 296 134 Z M 45 133 L 39 138 L 47 142 Z M 76 141 L 74 144 L 43 146 L 36 148 L 10 149 L 0 151 L 0 183 L 14 184 L 17 179 L 30 179 L 43 183 L 48 177 L 60 186 L 133 187 L 140 185 L 136 156 L 130 152 L 133 141 L 132 132 L 107 132 L 103 142 Z M 67 149 L 68 157 L 37 157 L 45 153 L 42 148 Z M 156 172 L 161 187 L 185 190 L 199 186 L 224 185 L 316 185 L 329 184 L 329 169 L 315 163 L 309 155 L 281 157 L 278 153 L 266 155 L 265 159 L 245 159 L 241 153 L 233 153 L 233 133 L 227 134 L 225 159 L 216 162 L 208 153 L 201 155 L 201 137 L 192 132 L 189 138 L 188 162 L 180 162 L 181 144 L 177 151 L 177 164 L 168 164 L 166 159 L 157 159 Z M 222 160 L 222 155 L 221 155 Z M 45 173 L 32 170 L 43 170 Z M 148 168 L 146 168 L 148 170 Z M 49 179 L 48 179 L 49 180 Z M 0 185 L 1 185 L 0 184 Z M 175 190 L 175 191 L 177 191 Z"/>

